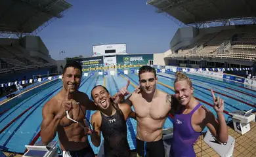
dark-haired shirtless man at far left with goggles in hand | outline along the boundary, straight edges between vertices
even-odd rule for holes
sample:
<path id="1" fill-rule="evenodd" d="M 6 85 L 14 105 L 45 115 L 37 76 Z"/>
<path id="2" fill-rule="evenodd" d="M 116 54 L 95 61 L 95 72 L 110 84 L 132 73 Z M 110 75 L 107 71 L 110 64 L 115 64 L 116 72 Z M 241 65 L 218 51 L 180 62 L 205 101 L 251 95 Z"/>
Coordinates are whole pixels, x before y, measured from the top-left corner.
<path id="1" fill-rule="evenodd" d="M 87 110 L 97 110 L 87 94 L 79 92 L 82 68 L 76 61 L 67 63 L 62 74 L 63 88 L 43 107 L 41 141 L 47 145 L 58 132 L 58 140 L 63 156 L 94 157 L 85 122 Z M 67 114 L 68 113 L 68 114 Z"/>

